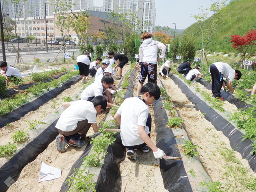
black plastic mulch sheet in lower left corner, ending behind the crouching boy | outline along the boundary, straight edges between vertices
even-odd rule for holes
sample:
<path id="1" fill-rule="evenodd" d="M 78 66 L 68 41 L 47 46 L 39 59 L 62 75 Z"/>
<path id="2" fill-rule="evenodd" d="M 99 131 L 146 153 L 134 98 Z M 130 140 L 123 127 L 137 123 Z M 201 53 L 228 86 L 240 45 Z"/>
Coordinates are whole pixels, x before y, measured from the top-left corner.
<path id="1" fill-rule="evenodd" d="M 59 135 L 59 132 L 55 127 L 58 119 L 50 124 L 48 128 L 46 128 L 32 142 L 29 142 L 22 150 L 15 154 L 0 168 L 0 192 L 8 190 L 8 186 L 4 183 L 5 181 L 9 181 L 10 179 L 17 181 L 22 169 L 28 163 L 34 161 L 37 156 L 42 153 L 57 137 L 57 135 Z"/>

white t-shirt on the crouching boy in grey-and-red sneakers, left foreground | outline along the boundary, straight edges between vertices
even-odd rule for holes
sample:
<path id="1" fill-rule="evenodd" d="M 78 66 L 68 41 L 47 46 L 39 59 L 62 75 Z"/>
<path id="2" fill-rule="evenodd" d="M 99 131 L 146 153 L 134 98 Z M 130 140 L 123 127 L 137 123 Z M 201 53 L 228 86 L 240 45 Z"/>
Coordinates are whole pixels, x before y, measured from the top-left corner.
<path id="1" fill-rule="evenodd" d="M 78 122 L 85 119 L 88 120 L 88 123 L 96 123 L 96 114 L 97 111 L 92 102 L 83 100 L 72 102 L 72 105 L 59 117 L 56 128 L 62 131 L 73 131 Z"/>

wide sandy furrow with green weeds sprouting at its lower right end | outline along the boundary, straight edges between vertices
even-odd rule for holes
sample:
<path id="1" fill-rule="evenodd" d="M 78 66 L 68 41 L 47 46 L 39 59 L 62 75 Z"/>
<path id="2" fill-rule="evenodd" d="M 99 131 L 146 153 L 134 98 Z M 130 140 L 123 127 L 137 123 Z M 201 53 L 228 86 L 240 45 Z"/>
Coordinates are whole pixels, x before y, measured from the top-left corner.
<path id="1" fill-rule="evenodd" d="M 254 191 L 255 173 L 247 160 L 230 147 L 230 141 L 221 131 L 203 118 L 204 114 L 193 109 L 186 95 L 170 79 L 163 80 L 171 100 L 185 120 L 187 132 L 194 144 L 198 144 L 200 158 L 213 181 L 220 181 L 228 190 Z M 245 171 L 245 176 L 243 176 Z M 237 175 L 237 177 L 234 177 Z M 252 177 L 251 177 L 252 175 Z M 245 183 L 247 183 L 245 185 Z"/>

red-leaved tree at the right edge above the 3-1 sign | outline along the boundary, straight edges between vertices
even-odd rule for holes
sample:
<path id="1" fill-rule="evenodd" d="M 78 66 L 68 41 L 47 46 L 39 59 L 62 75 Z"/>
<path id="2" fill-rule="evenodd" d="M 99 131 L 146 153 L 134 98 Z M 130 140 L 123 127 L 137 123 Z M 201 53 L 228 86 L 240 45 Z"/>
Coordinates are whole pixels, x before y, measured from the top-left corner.
<path id="1" fill-rule="evenodd" d="M 256 52 L 256 30 L 250 29 L 245 36 L 231 35 L 230 41 L 232 42 L 232 47 L 238 53 L 243 55 L 243 61 L 245 61 L 245 54 L 249 54 L 249 59 Z"/>

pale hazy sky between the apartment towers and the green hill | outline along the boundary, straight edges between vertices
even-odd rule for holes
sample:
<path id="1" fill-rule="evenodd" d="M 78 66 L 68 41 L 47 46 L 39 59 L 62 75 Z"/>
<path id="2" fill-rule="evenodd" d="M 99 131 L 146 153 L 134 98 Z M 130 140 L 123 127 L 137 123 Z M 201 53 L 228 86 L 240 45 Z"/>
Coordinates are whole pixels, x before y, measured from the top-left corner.
<path id="1" fill-rule="evenodd" d="M 186 29 L 196 22 L 190 17 L 200 13 L 199 7 L 210 8 L 211 0 L 155 0 L 156 2 L 156 26 L 165 26 L 176 29 Z M 229 0 L 228 0 L 229 2 Z M 103 6 L 103 0 L 94 0 L 94 6 Z M 209 12 L 209 17 L 212 15 Z"/>

